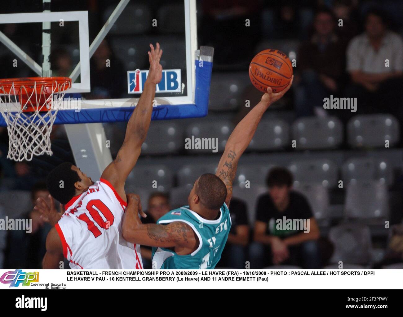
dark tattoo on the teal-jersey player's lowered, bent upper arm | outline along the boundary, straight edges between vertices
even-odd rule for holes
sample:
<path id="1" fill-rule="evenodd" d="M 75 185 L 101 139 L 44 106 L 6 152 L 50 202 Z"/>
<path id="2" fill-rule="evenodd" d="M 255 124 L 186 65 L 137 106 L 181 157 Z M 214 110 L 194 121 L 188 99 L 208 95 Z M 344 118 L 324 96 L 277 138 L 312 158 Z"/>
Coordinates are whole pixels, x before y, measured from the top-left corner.
<path id="1" fill-rule="evenodd" d="M 187 244 L 188 232 L 189 226 L 179 221 L 169 225 L 147 225 L 147 235 L 150 239 L 161 243 L 172 242 L 172 246 Z"/>

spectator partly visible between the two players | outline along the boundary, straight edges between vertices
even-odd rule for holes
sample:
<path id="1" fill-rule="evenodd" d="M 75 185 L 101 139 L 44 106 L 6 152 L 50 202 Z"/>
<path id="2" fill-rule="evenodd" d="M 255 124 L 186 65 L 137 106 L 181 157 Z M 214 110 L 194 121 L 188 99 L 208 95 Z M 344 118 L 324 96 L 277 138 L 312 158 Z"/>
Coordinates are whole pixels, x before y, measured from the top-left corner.
<path id="1" fill-rule="evenodd" d="M 148 210 L 145 212 L 147 218 L 141 218 L 143 223 L 157 223 L 157 220 L 171 210 L 169 195 L 166 193 L 155 192 L 148 197 Z M 141 246 L 141 258 L 144 269 L 152 269 L 151 247 Z"/>

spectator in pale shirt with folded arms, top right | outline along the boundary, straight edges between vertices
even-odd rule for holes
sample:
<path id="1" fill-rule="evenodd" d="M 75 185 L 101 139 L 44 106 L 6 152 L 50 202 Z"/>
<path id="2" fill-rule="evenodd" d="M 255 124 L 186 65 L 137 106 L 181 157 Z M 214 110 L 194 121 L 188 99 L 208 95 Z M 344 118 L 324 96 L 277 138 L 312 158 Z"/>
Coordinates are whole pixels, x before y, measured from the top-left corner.
<path id="1" fill-rule="evenodd" d="M 345 97 L 357 98 L 357 113 L 392 113 L 401 120 L 403 42 L 388 30 L 387 21 L 381 10 L 368 11 L 365 32 L 349 43 L 351 84 Z"/>

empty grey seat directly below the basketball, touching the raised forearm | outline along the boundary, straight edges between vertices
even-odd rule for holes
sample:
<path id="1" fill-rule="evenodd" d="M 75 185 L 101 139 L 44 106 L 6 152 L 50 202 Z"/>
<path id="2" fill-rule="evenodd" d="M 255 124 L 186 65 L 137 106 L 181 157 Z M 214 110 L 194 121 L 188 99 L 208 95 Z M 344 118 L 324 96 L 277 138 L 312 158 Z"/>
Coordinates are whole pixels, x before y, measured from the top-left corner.
<path id="1" fill-rule="evenodd" d="M 289 126 L 281 119 L 262 120 L 249 143 L 250 150 L 273 150 L 289 145 Z"/>

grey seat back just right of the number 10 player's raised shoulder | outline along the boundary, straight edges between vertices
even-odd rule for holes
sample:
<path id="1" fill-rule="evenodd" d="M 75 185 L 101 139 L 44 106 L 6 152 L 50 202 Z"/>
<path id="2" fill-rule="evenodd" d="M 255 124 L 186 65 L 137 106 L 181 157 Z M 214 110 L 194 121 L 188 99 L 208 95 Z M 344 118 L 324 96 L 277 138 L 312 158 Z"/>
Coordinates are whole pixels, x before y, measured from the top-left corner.
<path id="1" fill-rule="evenodd" d="M 157 188 L 153 188 L 154 181 L 157 182 Z M 172 173 L 165 165 L 137 165 L 127 177 L 126 185 L 134 190 L 169 191 L 172 187 Z"/>

